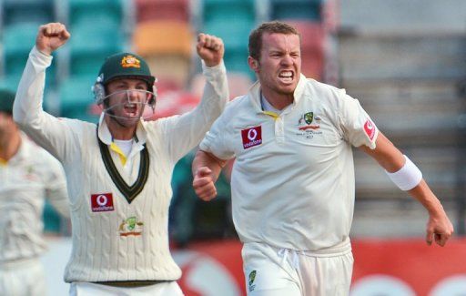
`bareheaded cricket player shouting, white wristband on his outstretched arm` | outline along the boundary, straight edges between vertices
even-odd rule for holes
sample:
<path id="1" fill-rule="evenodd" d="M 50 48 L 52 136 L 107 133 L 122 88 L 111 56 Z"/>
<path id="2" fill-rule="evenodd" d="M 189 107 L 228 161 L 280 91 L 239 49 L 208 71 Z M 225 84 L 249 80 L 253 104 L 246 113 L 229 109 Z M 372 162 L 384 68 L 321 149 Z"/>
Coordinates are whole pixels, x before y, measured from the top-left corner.
<path id="1" fill-rule="evenodd" d="M 445 245 L 453 228 L 420 169 L 375 126 L 357 99 L 300 73 L 299 32 L 281 22 L 249 36 L 258 82 L 234 99 L 200 144 L 193 186 L 200 199 L 236 157 L 233 220 L 244 243 L 248 295 L 348 295 L 353 266 L 351 146 L 384 168 L 429 213 L 426 240 Z"/>

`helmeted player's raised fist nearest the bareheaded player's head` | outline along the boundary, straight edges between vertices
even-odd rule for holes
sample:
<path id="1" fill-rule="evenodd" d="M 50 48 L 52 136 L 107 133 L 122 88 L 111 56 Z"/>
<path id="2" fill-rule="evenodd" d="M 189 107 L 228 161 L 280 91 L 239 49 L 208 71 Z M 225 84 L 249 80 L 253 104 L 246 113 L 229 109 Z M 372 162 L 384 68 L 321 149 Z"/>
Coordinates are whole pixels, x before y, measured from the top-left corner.
<path id="1" fill-rule="evenodd" d="M 220 64 L 225 53 L 222 39 L 203 33 L 198 35 L 196 50 L 198 51 L 198 56 L 206 63 L 206 66 L 217 66 Z"/>

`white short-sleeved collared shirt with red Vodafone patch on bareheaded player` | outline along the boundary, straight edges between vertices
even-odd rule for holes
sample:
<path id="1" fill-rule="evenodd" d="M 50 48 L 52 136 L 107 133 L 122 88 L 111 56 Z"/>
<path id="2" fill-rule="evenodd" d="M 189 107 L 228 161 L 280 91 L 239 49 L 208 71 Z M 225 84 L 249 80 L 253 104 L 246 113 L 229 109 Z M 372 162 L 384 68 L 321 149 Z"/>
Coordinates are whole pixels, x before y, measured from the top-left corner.
<path id="1" fill-rule="evenodd" d="M 260 85 L 233 100 L 200 144 L 236 157 L 233 219 L 244 242 L 291 250 L 349 246 L 354 203 L 351 145 L 375 148 L 378 130 L 345 91 L 302 76 L 293 103 L 263 111 Z"/>

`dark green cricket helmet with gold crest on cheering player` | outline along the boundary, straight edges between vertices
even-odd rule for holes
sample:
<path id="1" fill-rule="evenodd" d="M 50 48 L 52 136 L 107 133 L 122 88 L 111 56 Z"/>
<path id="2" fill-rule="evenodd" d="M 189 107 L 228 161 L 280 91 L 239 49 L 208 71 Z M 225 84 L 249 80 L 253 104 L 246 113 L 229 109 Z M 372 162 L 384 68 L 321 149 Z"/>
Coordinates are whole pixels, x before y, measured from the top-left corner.
<path id="1" fill-rule="evenodd" d="M 154 91 L 154 82 L 156 77 L 150 74 L 149 66 L 146 61 L 136 54 L 119 53 L 107 56 L 106 61 L 100 67 L 96 85 L 93 87 L 96 103 L 99 104 L 104 100 L 104 87 L 107 83 L 118 78 L 137 78 L 147 82 L 147 90 Z"/>

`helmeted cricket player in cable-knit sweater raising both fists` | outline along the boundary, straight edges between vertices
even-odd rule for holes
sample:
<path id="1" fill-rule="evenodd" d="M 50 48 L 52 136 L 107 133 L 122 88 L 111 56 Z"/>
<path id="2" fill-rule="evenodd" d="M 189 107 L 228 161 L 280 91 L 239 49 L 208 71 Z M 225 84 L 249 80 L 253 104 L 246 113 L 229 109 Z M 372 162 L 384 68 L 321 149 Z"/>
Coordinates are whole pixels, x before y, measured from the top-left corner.
<path id="1" fill-rule="evenodd" d="M 143 58 L 106 58 L 93 87 L 103 107 L 98 125 L 56 118 L 42 109 L 51 54 L 70 34 L 40 26 L 15 99 L 15 121 L 64 165 L 72 253 L 65 281 L 71 295 L 182 295 L 181 270 L 168 249 L 170 179 L 179 158 L 196 147 L 228 101 L 224 46 L 198 36 L 206 88 L 182 116 L 145 121 L 155 107 L 153 77 Z M 157 40 L 155 40 L 157 42 Z"/>

